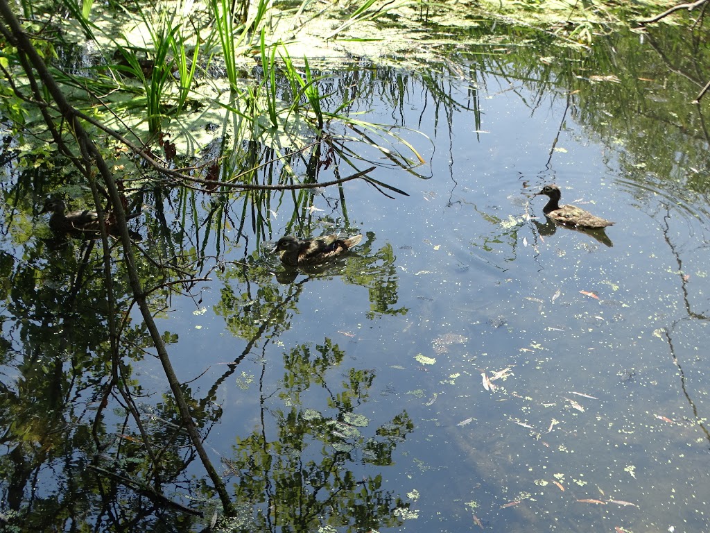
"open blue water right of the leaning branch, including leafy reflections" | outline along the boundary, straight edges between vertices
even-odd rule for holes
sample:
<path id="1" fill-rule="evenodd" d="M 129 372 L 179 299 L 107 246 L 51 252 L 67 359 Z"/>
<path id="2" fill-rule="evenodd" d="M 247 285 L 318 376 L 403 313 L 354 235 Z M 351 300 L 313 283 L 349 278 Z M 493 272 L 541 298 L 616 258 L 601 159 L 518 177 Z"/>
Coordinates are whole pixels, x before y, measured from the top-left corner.
<path id="1" fill-rule="evenodd" d="M 415 77 L 393 105 L 375 71 L 355 100 L 368 121 L 421 131 L 401 130 L 427 161 L 426 179 L 373 173 L 408 196 L 360 182 L 345 204 L 315 196 L 312 232 L 362 232 L 356 254 L 281 284 L 266 246 L 230 229 L 224 271 L 160 319 L 178 376 L 219 413 L 204 426 L 214 461 L 274 529 L 280 501 L 323 524 L 360 502 L 386 517 L 361 531 L 707 531 L 708 146 L 678 140 L 707 103 L 651 103 L 677 80 L 661 67 L 626 72 L 646 87 L 630 101 L 581 68 L 570 97 L 542 62 L 526 77 L 460 63 L 467 75 L 437 78 L 455 105 Z M 545 225 L 532 194 L 548 183 L 616 221 L 613 246 Z M 273 239 L 294 231 L 292 207 L 273 207 Z M 250 254 L 273 274 L 245 281 Z M 156 360 L 133 365 L 145 391 L 167 389 Z M 397 498 L 408 507 L 377 511 Z"/>

